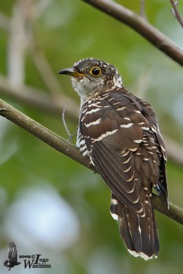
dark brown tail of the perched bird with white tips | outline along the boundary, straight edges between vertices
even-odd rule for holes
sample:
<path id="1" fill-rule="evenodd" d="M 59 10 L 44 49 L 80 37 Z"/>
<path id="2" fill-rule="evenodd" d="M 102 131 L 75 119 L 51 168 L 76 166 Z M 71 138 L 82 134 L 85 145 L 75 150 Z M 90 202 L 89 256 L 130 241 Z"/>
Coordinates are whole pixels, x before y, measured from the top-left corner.
<path id="1" fill-rule="evenodd" d="M 127 208 L 114 195 L 112 201 L 115 201 L 115 206 L 111 205 L 110 212 L 118 216 L 119 231 L 127 250 L 133 256 L 140 256 L 144 260 L 156 258 L 159 253 L 159 241 L 151 199 L 144 204 L 144 217 Z"/>

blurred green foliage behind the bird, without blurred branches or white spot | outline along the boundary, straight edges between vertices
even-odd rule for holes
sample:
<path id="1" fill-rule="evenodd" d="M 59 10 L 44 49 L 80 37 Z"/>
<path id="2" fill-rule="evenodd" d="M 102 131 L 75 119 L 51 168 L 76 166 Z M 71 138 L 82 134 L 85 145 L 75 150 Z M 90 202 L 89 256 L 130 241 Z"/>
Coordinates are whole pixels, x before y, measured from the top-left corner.
<path id="1" fill-rule="evenodd" d="M 135 12 L 140 10 L 140 0 L 118 2 Z M 13 0 L 1 0 L 1 12 L 11 17 L 14 4 Z M 181 5 L 182 3 L 180 9 Z M 145 6 L 148 21 L 182 47 L 182 29 L 170 12 L 169 1 L 147 1 Z M 170 136 L 180 144 L 183 143 L 182 69 L 132 29 L 82 1 L 54 0 L 50 1 L 34 23 L 34 34 L 37 46 L 45 53 L 55 74 L 64 67 L 72 66 L 73 62 L 88 57 L 106 60 L 117 66 L 125 86 L 153 105 L 162 134 Z M 8 72 L 7 47 L 8 32 L 0 29 L 0 73 L 3 75 Z M 29 51 L 25 60 L 25 75 L 26 84 L 49 92 L 46 91 L 47 86 Z M 79 104 L 79 98 L 73 92 L 69 77 L 56 77 L 65 94 L 73 97 Z M 31 108 L 17 103 L 9 97 L 2 96 L 2 99 L 67 138 L 62 125 L 61 110 L 60 117 L 56 117 L 34 106 Z M 75 132 L 77 122 L 66 118 L 66 123 L 70 131 Z M 23 191 L 29 190 L 31 186 L 35 189 L 41 186 L 44 190 L 45 184 L 49 184 L 69 203 L 80 222 L 80 236 L 77 242 L 64 251 L 59 248 L 49 250 L 44 244 L 32 247 L 31 250 L 29 246 L 26 247 L 27 253 L 41 251 L 47 253 L 48 258 L 52 258 L 50 273 L 182 273 L 181 225 L 156 212 L 160 256 L 150 262 L 133 258 L 127 253 L 119 237 L 117 223 L 109 214 L 110 190 L 101 178 L 9 121 L 1 118 L 0 125 L 1 258 L 4 258 L 6 245 L 10 240 L 16 242 L 19 250 L 25 249 L 16 237 L 12 239 L 6 232 L 4 220 L 8 208 L 18 199 L 20 191 L 23 195 Z M 74 143 L 75 138 L 71 142 Z M 167 175 L 170 200 L 183 208 L 182 167 L 168 162 Z M 55 261 L 54 256 L 58 258 Z M 7 269 L 2 266 L 1 273 L 5 271 Z M 18 266 L 13 271 L 21 273 Z M 48 272 L 48 269 L 45 272 L 38 270 L 38 273 Z"/>

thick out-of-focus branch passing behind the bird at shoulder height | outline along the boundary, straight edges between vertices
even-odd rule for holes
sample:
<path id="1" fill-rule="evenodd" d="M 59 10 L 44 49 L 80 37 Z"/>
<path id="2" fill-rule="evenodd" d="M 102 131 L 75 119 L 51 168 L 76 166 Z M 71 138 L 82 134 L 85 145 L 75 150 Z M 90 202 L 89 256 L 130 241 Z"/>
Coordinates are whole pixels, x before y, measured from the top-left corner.
<path id="1" fill-rule="evenodd" d="M 147 79 L 147 75 L 143 78 Z M 145 84 L 143 84 L 144 86 Z M 50 95 L 47 95 L 45 91 L 32 88 L 31 86 L 22 86 L 18 90 L 17 88 L 12 88 L 8 84 L 7 79 L 2 75 L 0 75 L 0 94 L 59 117 L 61 117 L 64 110 L 66 116 L 69 116 L 73 121 L 77 121 L 78 119 L 80 107 L 77 105 L 77 102 L 66 97 L 66 95 L 60 95 L 60 98 L 56 101 Z M 168 157 L 176 164 L 183 166 L 182 147 L 167 136 L 163 136 L 163 138 L 167 147 Z"/>

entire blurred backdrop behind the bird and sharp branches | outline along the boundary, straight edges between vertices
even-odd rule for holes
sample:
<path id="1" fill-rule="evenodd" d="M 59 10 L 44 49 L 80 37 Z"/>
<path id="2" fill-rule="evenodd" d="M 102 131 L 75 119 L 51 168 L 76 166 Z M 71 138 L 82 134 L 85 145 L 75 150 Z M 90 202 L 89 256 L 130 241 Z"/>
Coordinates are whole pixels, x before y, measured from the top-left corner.
<path id="1" fill-rule="evenodd" d="M 140 13 L 141 1 L 117 1 Z M 178 6 L 183 14 L 183 4 Z M 183 47 L 169 1 L 145 2 L 147 20 Z M 183 208 L 182 68 L 129 27 L 80 0 L 1 0 L 0 95 L 53 132 L 73 134 L 80 99 L 58 75 L 82 58 L 117 66 L 125 86 L 149 101 L 169 154 L 169 199 Z M 110 190 L 99 175 L 0 117 L 0 272 L 14 241 L 19 255 L 42 254 L 51 269 L 29 273 L 179 274 L 183 229 L 156 212 L 160 256 L 133 258 L 109 213 Z M 75 143 L 75 137 L 71 140 Z M 13 273 L 25 273 L 23 260 Z"/>

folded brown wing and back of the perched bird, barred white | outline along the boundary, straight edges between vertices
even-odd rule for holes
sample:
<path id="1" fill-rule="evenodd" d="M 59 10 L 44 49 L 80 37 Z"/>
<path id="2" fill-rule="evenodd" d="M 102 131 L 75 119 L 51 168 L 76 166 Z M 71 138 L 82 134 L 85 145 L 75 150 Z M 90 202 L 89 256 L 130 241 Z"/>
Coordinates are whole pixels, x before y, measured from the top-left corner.
<path id="1" fill-rule="evenodd" d="M 165 150 L 159 144 L 163 141 L 156 117 L 147 103 L 138 100 L 126 90 L 93 97 L 82 108 L 80 132 L 115 197 L 143 216 L 146 188 L 151 192 L 149 186 L 160 185 L 159 194 L 167 197 L 167 182 L 158 183 Z"/>

